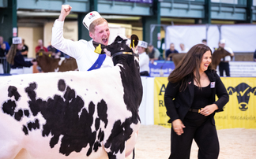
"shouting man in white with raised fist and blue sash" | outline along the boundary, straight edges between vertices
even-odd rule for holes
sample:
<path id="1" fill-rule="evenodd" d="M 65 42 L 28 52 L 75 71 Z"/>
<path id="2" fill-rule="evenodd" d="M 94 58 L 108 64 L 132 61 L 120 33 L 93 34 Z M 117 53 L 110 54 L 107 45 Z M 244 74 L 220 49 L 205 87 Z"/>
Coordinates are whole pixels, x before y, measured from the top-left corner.
<path id="1" fill-rule="evenodd" d="M 63 37 L 63 25 L 67 15 L 70 14 L 72 7 L 70 5 L 62 5 L 61 13 L 52 28 L 51 45 L 65 54 L 74 57 L 77 61 L 79 71 L 90 71 L 97 68 L 113 67 L 113 61 L 106 54 L 96 53 L 92 40 L 107 46 L 110 31 L 107 20 L 100 16 L 100 13 L 92 11 L 88 13 L 83 24 L 88 29 L 92 38 L 90 41 L 79 40 L 74 42 Z"/>

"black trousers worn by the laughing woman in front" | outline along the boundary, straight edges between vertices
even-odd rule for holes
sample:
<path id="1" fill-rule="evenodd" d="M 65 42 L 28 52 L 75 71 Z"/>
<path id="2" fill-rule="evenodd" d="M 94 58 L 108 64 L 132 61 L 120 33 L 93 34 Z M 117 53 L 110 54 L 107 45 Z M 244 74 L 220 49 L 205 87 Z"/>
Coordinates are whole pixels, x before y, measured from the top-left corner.
<path id="1" fill-rule="evenodd" d="M 216 159 L 220 145 L 216 127 L 209 116 L 188 112 L 183 124 L 183 135 L 177 135 L 171 128 L 171 155 L 169 159 L 189 159 L 192 141 L 198 145 L 198 159 Z"/>

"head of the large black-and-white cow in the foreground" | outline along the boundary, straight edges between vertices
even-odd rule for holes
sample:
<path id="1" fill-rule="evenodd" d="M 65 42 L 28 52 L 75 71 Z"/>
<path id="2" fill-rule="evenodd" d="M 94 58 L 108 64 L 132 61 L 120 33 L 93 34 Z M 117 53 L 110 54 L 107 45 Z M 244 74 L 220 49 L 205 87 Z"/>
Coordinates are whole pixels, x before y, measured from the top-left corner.
<path id="1" fill-rule="evenodd" d="M 115 56 L 115 54 L 137 54 L 137 43 L 138 38 L 137 35 L 131 35 L 130 39 L 127 39 L 123 35 L 117 35 L 115 41 L 108 46 L 104 46 L 100 43 L 96 43 L 93 41 L 93 46 L 95 46 L 95 52 L 98 54 L 107 54 L 108 56 Z"/>

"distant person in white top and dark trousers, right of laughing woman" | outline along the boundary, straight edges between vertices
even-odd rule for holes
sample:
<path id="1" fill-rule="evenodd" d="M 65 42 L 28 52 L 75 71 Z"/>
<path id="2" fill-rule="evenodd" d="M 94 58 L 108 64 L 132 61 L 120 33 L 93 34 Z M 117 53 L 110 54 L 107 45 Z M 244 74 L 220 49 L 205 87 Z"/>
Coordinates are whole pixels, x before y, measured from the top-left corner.
<path id="1" fill-rule="evenodd" d="M 226 47 L 225 44 L 226 44 L 226 40 L 220 39 L 219 47 L 228 51 L 228 53 L 230 53 L 231 56 L 228 55 L 220 60 L 220 64 L 219 64 L 220 76 L 223 76 L 224 71 L 226 73 L 226 76 L 230 76 L 229 61 L 231 61 L 232 57 L 234 56 L 232 49 L 230 47 Z"/>

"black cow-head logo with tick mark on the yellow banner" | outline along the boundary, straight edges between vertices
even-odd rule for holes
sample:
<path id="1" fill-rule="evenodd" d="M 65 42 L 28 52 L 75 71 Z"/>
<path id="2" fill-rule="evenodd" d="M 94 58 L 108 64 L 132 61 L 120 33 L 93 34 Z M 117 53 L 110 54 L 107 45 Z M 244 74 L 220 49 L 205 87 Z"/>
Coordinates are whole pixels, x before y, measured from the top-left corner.
<path id="1" fill-rule="evenodd" d="M 256 95 L 256 87 L 250 87 L 247 83 L 239 83 L 236 87 L 228 87 L 228 94 L 232 95 L 236 92 L 239 102 L 239 109 L 246 111 L 250 99 L 250 92 Z"/>

